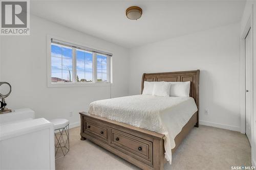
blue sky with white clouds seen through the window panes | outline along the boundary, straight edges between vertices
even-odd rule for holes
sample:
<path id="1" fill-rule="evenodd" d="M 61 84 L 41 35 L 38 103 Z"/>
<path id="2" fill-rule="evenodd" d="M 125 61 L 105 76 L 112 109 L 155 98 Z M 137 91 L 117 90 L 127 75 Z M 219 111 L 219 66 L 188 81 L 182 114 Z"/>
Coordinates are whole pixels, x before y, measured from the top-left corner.
<path id="1" fill-rule="evenodd" d="M 58 45 L 51 45 L 52 55 L 52 77 L 58 77 L 65 80 L 69 79 L 69 71 L 72 78 L 72 48 L 61 47 Z M 62 58 L 62 63 L 61 63 Z M 61 65 L 62 64 L 62 65 Z M 86 79 L 92 80 L 92 66 L 93 66 L 93 54 L 86 51 L 76 51 L 76 71 L 79 80 Z M 68 67 L 68 68 L 67 68 Z M 97 55 L 97 78 L 107 80 L 106 74 L 106 57 Z"/>

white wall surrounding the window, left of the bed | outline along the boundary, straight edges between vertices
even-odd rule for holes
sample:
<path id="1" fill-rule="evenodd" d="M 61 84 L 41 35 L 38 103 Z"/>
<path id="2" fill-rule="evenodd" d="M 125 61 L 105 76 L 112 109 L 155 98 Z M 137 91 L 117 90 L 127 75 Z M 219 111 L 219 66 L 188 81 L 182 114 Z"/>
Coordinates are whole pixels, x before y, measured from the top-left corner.
<path id="1" fill-rule="evenodd" d="M 28 107 L 35 111 L 36 117 L 67 118 L 75 124 L 80 121 L 78 112 L 87 111 L 92 101 L 110 98 L 110 86 L 47 87 L 48 34 L 111 51 L 112 96 L 128 94 L 128 85 L 123 81 L 128 77 L 127 49 L 36 16 L 31 16 L 30 25 L 30 36 L 2 37 L 2 80 L 9 82 L 13 90 L 6 99 L 8 107 Z"/>

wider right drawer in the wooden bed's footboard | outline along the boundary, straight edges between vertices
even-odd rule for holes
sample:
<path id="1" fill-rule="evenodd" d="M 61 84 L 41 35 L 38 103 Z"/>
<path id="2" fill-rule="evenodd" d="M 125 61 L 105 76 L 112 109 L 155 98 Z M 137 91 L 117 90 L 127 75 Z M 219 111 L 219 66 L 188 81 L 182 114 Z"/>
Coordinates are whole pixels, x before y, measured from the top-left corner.
<path id="1" fill-rule="evenodd" d="M 122 131 L 110 128 L 110 145 L 113 148 L 122 150 L 127 155 L 153 165 L 152 162 L 152 142 L 124 133 Z"/>

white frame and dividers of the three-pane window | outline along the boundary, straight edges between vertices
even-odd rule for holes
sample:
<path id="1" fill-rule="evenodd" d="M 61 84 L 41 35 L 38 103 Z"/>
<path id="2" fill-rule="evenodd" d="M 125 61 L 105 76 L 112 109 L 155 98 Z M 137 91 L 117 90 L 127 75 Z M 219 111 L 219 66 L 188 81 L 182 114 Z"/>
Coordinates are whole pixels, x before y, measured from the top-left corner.
<path id="1" fill-rule="evenodd" d="M 56 36 L 47 35 L 47 85 L 48 87 L 79 87 L 79 86 L 110 86 L 112 84 L 112 60 L 113 56 L 106 56 L 107 57 L 107 77 L 108 82 L 97 82 L 97 53 L 92 52 L 93 54 L 93 81 L 92 82 L 77 82 L 76 81 L 76 50 L 73 48 L 73 82 L 52 82 L 51 76 L 52 76 L 52 68 L 51 68 L 51 62 L 52 62 L 52 56 L 51 56 L 51 38 L 58 39 L 61 41 L 66 41 L 72 44 L 77 44 L 80 46 L 86 46 L 89 48 L 94 48 L 106 53 L 111 53 L 110 51 L 103 50 L 98 47 L 92 47 L 90 45 L 84 45 L 77 42 L 72 42 L 70 40 L 65 40 L 63 38 L 59 38 Z M 102 55 L 102 54 L 100 54 Z M 105 55 L 102 55 L 105 56 Z"/>

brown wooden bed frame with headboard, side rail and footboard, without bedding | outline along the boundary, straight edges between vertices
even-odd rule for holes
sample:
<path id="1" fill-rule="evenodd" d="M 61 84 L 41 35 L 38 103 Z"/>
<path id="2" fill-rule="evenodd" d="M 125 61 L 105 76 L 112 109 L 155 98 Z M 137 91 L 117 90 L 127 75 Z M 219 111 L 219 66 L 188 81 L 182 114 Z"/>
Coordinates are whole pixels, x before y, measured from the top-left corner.
<path id="1" fill-rule="evenodd" d="M 141 93 L 144 81 L 190 81 L 189 95 L 195 99 L 199 110 L 199 74 L 200 70 L 143 74 Z M 163 134 L 91 115 L 87 112 L 80 112 L 80 116 L 81 140 L 90 139 L 102 148 L 142 169 L 163 169 L 166 162 Z M 199 127 L 198 111 L 191 116 L 182 131 L 175 137 L 176 147 L 172 149 L 172 153 L 177 150 L 182 140 L 194 126 Z"/>

